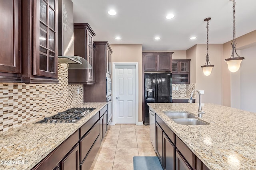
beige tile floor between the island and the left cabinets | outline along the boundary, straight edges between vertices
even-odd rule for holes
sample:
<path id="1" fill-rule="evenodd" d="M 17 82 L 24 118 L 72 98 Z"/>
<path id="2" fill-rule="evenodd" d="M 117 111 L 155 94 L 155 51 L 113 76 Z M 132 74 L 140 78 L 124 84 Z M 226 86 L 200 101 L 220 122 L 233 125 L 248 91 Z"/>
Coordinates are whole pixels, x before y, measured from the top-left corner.
<path id="1" fill-rule="evenodd" d="M 90 170 L 133 170 L 133 156 L 156 156 L 149 126 L 110 126 Z"/>

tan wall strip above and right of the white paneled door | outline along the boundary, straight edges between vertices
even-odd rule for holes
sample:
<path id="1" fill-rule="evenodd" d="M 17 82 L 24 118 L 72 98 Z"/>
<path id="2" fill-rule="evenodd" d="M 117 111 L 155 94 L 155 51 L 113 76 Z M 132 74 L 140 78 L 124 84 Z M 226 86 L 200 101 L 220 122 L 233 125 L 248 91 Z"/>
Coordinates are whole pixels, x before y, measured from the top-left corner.
<path id="1" fill-rule="evenodd" d="M 142 121 L 142 45 L 141 44 L 110 44 L 112 62 L 139 63 L 139 119 Z"/>

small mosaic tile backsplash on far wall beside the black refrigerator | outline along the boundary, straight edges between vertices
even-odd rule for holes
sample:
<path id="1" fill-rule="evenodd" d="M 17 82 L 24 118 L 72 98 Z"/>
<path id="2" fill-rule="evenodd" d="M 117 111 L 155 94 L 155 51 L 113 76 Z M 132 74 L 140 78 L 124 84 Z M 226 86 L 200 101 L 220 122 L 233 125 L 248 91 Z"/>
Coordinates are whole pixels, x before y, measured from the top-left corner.
<path id="1" fill-rule="evenodd" d="M 178 87 L 178 90 L 176 90 Z M 188 99 L 190 98 L 190 94 L 193 90 L 196 89 L 196 84 L 172 84 L 172 88 L 175 88 L 175 90 L 172 90 L 172 98 L 173 99 Z M 193 98 L 196 98 L 196 94 L 193 94 Z"/>

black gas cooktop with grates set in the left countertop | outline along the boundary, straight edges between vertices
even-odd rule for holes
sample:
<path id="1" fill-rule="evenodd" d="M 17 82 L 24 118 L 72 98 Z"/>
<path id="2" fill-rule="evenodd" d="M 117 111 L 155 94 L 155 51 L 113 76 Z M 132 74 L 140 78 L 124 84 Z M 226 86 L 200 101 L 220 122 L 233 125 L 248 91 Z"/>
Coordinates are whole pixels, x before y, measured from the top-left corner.
<path id="1" fill-rule="evenodd" d="M 75 123 L 84 116 L 88 115 L 94 109 L 95 108 L 91 107 L 71 108 L 67 109 L 66 111 L 59 112 L 52 117 L 44 117 L 43 120 L 36 123 Z"/>

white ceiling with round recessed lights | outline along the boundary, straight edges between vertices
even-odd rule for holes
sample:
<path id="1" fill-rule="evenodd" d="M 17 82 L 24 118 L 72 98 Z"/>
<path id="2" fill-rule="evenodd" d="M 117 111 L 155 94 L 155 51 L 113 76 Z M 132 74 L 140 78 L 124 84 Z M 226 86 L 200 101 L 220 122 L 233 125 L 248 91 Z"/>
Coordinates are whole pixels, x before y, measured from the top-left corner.
<path id="1" fill-rule="evenodd" d="M 142 44 L 143 50 L 186 50 L 232 40 L 233 2 L 231 0 L 72 0 L 74 23 L 89 23 L 94 41 L 110 44 Z M 116 16 L 108 10 L 116 10 Z M 167 14 L 175 17 L 167 20 Z M 236 0 L 236 37 L 256 30 L 256 0 Z M 115 37 L 120 36 L 121 40 Z M 154 40 L 160 36 L 160 40 Z M 196 36 L 197 39 L 189 38 Z M 238 41 L 237 41 L 238 42 Z M 239 42 L 238 42 L 239 43 Z"/>

